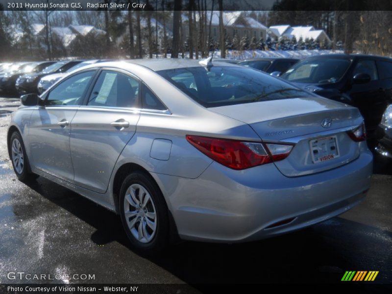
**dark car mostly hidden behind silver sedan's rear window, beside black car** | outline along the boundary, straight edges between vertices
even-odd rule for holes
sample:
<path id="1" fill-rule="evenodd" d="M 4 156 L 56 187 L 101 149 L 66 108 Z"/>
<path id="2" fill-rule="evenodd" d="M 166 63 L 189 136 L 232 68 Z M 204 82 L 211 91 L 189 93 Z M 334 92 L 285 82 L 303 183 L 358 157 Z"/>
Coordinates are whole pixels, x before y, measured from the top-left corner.
<path id="1" fill-rule="evenodd" d="M 262 57 L 241 61 L 238 65 L 254 68 L 266 73 L 273 73 L 279 76 L 280 73 L 286 72 L 287 69 L 297 63 L 299 59 L 295 58 L 278 58 L 278 57 Z"/>

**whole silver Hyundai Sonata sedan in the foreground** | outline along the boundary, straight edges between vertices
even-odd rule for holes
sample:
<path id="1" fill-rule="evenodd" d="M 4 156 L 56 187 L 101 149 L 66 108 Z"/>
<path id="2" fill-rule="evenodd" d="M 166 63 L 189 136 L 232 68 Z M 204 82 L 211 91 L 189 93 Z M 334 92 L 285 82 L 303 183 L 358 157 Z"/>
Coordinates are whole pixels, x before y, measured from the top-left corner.
<path id="1" fill-rule="evenodd" d="M 276 236 L 347 211 L 370 185 L 357 108 L 250 68 L 105 62 L 21 100 L 8 130 L 18 178 L 117 212 L 139 250 Z"/>

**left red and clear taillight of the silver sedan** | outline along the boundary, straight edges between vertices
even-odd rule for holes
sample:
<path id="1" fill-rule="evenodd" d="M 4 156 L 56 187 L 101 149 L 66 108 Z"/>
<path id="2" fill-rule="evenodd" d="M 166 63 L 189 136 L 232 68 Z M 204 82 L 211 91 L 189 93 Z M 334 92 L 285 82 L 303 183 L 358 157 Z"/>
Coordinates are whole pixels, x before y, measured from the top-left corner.
<path id="1" fill-rule="evenodd" d="M 245 170 L 282 160 L 289 156 L 294 146 L 279 143 L 241 142 L 192 135 L 187 135 L 186 138 L 202 153 L 234 170 Z"/>

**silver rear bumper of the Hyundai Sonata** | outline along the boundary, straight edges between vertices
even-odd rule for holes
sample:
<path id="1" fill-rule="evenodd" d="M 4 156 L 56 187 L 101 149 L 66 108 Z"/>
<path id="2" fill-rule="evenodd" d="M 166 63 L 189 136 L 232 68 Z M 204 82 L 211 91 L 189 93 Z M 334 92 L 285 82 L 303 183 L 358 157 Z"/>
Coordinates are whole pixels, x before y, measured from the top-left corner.
<path id="1" fill-rule="evenodd" d="M 373 160 L 365 143 L 361 149 L 344 166 L 299 177 L 286 177 L 273 164 L 234 171 L 216 162 L 196 179 L 153 176 L 182 239 L 252 241 L 327 220 L 360 203 Z"/>

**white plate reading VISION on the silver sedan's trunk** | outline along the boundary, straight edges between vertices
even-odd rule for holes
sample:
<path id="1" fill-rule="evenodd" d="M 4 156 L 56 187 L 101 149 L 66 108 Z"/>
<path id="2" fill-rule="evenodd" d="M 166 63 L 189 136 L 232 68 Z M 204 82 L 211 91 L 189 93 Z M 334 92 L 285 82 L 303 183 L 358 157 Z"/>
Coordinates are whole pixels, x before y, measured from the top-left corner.
<path id="1" fill-rule="evenodd" d="M 332 160 L 340 156 L 336 136 L 310 140 L 309 144 L 313 163 Z"/>

